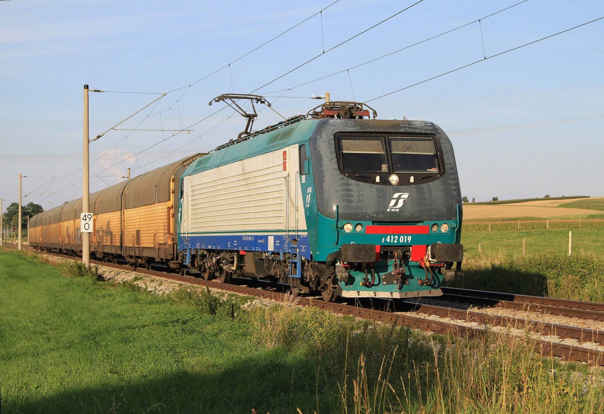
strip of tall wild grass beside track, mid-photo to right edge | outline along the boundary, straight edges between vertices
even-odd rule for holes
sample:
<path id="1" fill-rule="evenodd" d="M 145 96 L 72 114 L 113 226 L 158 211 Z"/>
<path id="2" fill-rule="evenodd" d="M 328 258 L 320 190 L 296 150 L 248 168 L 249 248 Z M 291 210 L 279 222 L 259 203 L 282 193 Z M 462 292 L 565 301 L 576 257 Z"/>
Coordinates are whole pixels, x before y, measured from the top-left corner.
<path id="1" fill-rule="evenodd" d="M 306 349 L 320 367 L 317 382 L 335 381 L 335 405 L 308 412 L 604 412 L 601 371 L 541 358 L 527 338 L 428 337 L 291 303 L 256 310 L 250 320 L 257 345 Z"/>

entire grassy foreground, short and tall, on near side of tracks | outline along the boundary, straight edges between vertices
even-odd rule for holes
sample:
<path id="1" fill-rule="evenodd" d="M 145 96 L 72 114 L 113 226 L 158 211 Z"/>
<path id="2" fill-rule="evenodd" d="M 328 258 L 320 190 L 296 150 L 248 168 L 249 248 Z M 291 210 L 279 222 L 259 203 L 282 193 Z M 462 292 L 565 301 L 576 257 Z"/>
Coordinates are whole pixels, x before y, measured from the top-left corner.
<path id="1" fill-rule="evenodd" d="M 604 410 L 600 371 L 542 360 L 523 339 L 429 337 L 287 304 L 244 311 L 184 290 L 158 297 L 12 252 L 0 253 L 0 284 L 5 413 Z"/>

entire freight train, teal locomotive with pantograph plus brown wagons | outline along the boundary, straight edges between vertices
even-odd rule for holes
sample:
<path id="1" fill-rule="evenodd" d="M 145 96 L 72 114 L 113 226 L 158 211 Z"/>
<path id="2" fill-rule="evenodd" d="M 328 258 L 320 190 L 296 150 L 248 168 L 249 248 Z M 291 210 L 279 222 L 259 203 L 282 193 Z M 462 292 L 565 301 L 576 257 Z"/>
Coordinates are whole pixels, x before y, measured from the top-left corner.
<path id="1" fill-rule="evenodd" d="M 252 133 L 244 99 L 270 106 L 214 99 L 248 118 L 236 139 L 91 194 L 93 257 L 326 301 L 438 296 L 461 274 L 461 193 L 442 129 L 336 101 Z M 81 211 L 79 199 L 34 216 L 30 244 L 81 254 Z"/>

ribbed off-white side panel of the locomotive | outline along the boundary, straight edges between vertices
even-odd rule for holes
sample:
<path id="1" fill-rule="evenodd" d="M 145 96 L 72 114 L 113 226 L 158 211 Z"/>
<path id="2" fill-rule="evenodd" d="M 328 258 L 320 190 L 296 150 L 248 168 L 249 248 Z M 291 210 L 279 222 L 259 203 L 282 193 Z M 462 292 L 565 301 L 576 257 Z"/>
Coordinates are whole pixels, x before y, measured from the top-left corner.
<path id="1" fill-rule="evenodd" d="M 306 230 L 303 215 L 300 220 L 296 214 L 296 207 L 303 213 L 297 160 L 297 145 L 292 145 L 185 177 L 189 201 L 182 231 L 287 232 L 295 230 L 296 222 L 299 230 Z"/>

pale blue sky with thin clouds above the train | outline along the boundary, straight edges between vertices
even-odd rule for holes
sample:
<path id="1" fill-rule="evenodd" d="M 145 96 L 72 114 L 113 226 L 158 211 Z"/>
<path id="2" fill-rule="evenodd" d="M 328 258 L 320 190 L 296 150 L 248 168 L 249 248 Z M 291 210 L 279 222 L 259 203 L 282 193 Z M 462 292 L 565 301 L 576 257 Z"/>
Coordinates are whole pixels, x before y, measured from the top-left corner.
<path id="1" fill-rule="evenodd" d="M 509 51 L 604 2 L 334 1 L 0 1 L 5 208 L 19 174 L 24 204 L 82 196 L 84 84 L 106 91 L 89 94 L 91 138 L 109 130 L 91 192 L 236 138 L 245 119 L 217 95 L 289 117 L 329 92 L 438 124 L 469 199 L 604 196 L 604 19 Z M 254 129 L 281 119 L 258 109 Z"/>

